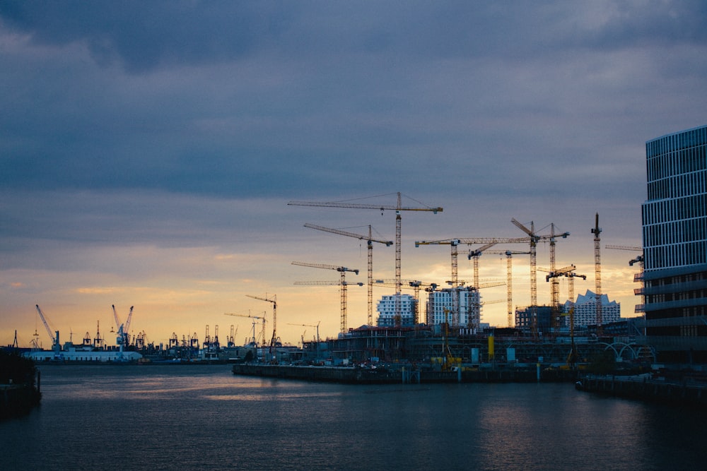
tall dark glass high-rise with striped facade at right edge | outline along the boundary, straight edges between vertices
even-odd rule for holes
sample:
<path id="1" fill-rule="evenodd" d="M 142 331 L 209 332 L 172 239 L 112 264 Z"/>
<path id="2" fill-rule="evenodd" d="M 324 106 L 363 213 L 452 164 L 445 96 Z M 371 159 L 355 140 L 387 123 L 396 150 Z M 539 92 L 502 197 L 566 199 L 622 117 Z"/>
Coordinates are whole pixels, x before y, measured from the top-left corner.
<path id="1" fill-rule="evenodd" d="M 707 363 L 707 126 L 645 143 L 645 334 L 661 362 Z"/>

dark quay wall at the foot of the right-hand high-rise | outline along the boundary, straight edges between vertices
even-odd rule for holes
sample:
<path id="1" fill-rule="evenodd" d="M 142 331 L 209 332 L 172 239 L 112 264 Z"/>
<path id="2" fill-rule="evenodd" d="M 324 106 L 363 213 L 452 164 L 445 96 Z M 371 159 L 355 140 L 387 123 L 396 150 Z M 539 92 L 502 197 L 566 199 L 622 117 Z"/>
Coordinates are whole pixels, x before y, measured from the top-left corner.
<path id="1" fill-rule="evenodd" d="M 589 393 L 655 403 L 688 405 L 707 410 L 707 385 L 673 383 L 636 376 L 585 376 L 577 388 Z"/>

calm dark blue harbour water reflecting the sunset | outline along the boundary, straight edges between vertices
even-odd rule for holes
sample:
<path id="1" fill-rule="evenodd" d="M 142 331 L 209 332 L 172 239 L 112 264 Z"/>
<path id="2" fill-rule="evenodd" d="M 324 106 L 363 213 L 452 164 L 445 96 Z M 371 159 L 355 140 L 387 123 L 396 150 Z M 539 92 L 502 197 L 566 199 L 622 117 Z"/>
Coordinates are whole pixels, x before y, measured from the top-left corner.
<path id="1" fill-rule="evenodd" d="M 342 386 L 226 365 L 42 366 L 2 470 L 698 470 L 707 415 L 571 384 Z"/>

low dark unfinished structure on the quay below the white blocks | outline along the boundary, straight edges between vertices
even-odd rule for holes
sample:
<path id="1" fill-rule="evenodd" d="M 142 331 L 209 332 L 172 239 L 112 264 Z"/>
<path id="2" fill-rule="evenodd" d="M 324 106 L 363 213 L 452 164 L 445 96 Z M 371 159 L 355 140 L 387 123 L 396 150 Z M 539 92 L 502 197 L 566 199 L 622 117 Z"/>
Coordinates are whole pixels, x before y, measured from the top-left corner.
<path id="1" fill-rule="evenodd" d="M 337 338 L 305 342 L 303 361 L 313 364 L 357 364 L 368 362 L 414 362 L 438 364 L 454 359 L 459 364 L 551 364 L 590 362 L 611 351 L 625 362 L 653 361 L 650 348 L 639 345 L 631 330 L 633 320 L 604 326 L 611 335 L 597 335 L 589 326 L 578 335 L 567 333 L 530 335 L 518 328 L 470 328 L 441 326 L 371 327 L 350 329 Z"/>

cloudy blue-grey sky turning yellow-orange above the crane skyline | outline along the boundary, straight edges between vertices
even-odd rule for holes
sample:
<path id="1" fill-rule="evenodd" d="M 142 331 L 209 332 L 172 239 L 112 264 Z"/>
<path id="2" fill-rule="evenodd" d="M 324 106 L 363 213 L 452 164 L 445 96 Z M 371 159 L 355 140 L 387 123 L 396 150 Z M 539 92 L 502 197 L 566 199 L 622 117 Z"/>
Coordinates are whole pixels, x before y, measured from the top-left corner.
<path id="1" fill-rule="evenodd" d="M 394 240 L 395 212 L 288 202 L 398 192 L 444 209 L 402 212 L 403 279 L 450 279 L 449 246 L 415 241 L 523 237 L 515 218 L 570 232 L 576 297 L 599 213 L 602 292 L 636 316 L 638 252 L 605 245 L 641 246 L 645 142 L 707 124 L 706 20 L 701 0 L 1 1 L 0 345 L 51 345 L 36 304 L 62 341 L 115 345 L 112 305 L 156 344 L 216 326 L 240 344 L 263 314 L 269 339 L 272 304 L 249 296 L 276 297 L 282 342 L 333 337 L 339 288 L 294 282 L 339 273 L 291 262 L 366 282 L 366 244 L 303 225 Z M 395 277 L 392 246 L 373 271 Z M 479 275 L 505 282 L 505 257 Z M 515 306 L 529 280 L 514 257 Z M 506 326 L 506 286 L 481 296 Z M 349 327 L 366 306 L 349 286 Z"/>

